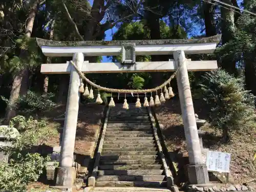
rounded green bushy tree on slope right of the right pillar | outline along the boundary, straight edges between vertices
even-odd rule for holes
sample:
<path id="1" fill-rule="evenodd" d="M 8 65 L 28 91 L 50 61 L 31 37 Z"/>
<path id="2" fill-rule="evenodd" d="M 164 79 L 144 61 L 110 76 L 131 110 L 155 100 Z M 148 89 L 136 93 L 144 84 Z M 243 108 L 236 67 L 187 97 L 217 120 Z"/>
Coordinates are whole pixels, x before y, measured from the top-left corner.
<path id="1" fill-rule="evenodd" d="M 254 120 L 255 97 L 244 89 L 240 78 L 224 70 L 208 72 L 201 84 L 204 100 L 210 105 L 210 123 L 222 130 L 225 141 L 230 132 L 246 128 Z"/>

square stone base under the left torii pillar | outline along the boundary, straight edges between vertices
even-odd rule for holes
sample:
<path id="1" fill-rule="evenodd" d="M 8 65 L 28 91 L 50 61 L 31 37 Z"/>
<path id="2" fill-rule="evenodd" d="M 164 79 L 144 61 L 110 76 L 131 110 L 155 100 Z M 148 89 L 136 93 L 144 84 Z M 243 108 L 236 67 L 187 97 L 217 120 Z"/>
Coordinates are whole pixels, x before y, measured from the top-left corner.
<path id="1" fill-rule="evenodd" d="M 71 187 L 76 179 L 76 170 L 74 167 L 56 167 L 56 185 Z"/>

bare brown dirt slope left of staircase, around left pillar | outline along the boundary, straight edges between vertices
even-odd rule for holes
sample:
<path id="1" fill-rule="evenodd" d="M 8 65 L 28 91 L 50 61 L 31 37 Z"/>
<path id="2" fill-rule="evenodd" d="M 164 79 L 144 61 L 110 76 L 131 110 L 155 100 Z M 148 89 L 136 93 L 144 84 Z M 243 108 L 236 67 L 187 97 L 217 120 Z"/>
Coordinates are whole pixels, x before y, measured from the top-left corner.
<path id="1" fill-rule="evenodd" d="M 100 130 L 101 119 L 103 118 L 104 105 L 99 104 L 83 104 L 79 106 L 78 123 L 76 130 L 75 151 L 78 156 L 90 156 L 90 149 L 96 140 L 95 133 Z M 41 114 L 42 118 L 47 118 L 50 129 L 56 129 L 61 127 L 61 123 L 54 121 L 54 118 L 63 117 L 65 113 L 66 105 L 59 105 L 51 111 Z M 40 117 L 39 117 L 40 118 Z M 59 145 L 59 131 L 44 143 L 47 146 L 53 147 Z M 49 188 L 48 184 L 41 182 L 32 182 L 29 184 L 29 191 L 45 191 L 46 189 L 51 191 L 61 191 L 54 188 Z M 79 191 L 73 189 L 72 191 Z"/>

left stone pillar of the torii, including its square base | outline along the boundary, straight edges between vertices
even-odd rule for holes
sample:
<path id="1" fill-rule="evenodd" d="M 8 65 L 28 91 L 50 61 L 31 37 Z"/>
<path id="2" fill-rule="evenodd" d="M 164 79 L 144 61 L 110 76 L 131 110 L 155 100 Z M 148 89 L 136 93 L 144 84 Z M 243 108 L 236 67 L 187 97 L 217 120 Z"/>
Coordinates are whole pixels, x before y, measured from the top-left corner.
<path id="1" fill-rule="evenodd" d="M 76 63 L 79 69 L 82 69 L 83 59 L 83 53 L 74 53 L 72 60 Z M 80 76 L 76 69 L 72 66 L 63 128 L 63 138 L 61 142 L 59 167 L 56 168 L 56 185 L 60 186 L 72 186 L 76 178 L 76 171 L 74 167 L 72 167 L 72 164 L 74 161 L 76 126 L 80 99 L 80 82 Z"/>

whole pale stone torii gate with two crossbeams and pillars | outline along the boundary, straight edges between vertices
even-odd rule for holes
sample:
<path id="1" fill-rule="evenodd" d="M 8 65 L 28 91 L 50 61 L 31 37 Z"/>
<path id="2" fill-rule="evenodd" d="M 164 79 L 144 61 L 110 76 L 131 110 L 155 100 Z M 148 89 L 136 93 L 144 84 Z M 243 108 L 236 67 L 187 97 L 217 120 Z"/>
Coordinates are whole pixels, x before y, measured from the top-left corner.
<path id="1" fill-rule="evenodd" d="M 189 86 L 187 71 L 210 71 L 218 69 L 217 61 L 191 61 L 186 54 L 212 53 L 220 41 L 220 35 L 200 39 L 168 39 L 168 40 L 129 40 L 129 41 L 53 41 L 37 38 L 37 44 L 48 56 L 73 56 L 77 67 L 83 73 L 131 73 L 131 72 L 168 72 L 176 71 L 179 98 L 182 110 L 187 151 L 189 157 L 188 176 L 191 184 L 209 182 L 207 167 L 203 163 L 198 137 L 197 124 Z M 84 56 L 120 55 L 123 45 L 133 44 L 136 55 L 168 55 L 174 54 L 174 60 L 156 62 L 123 63 L 89 63 Z M 181 64 L 185 65 L 181 65 Z M 59 167 L 57 168 L 56 185 L 71 186 L 74 182 L 72 168 L 77 116 L 79 108 L 80 77 L 70 61 L 59 64 L 42 64 L 43 74 L 70 73 L 69 93 Z"/>

